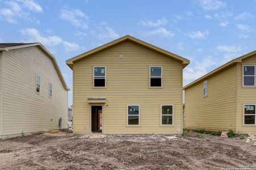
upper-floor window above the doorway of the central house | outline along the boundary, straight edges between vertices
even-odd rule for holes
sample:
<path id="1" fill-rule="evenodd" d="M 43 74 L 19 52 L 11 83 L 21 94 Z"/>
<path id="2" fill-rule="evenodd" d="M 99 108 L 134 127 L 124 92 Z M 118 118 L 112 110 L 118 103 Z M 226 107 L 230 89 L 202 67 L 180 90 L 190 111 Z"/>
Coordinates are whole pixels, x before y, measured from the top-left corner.
<path id="1" fill-rule="evenodd" d="M 93 86 L 106 86 L 106 67 L 93 67 Z"/>

